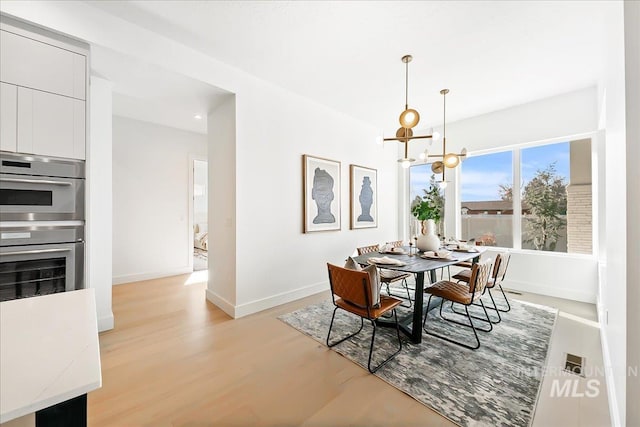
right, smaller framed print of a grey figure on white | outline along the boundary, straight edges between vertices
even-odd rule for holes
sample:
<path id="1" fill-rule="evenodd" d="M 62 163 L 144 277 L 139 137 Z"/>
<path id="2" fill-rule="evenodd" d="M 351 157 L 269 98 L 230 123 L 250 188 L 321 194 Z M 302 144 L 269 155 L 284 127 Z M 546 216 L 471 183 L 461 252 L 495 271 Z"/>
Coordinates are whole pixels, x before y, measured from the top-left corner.
<path id="1" fill-rule="evenodd" d="M 378 171 L 363 166 L 349 167 L 351 229 L 378 226 Z"/>

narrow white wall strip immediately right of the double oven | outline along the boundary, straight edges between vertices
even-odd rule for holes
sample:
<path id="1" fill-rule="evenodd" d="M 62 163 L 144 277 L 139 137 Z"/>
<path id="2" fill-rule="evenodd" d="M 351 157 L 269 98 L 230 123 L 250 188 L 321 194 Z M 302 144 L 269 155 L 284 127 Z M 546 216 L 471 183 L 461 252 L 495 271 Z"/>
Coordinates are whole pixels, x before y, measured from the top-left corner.
<path id="1" fill-rule="evenodd" d="M 113 84 L 91 76 L 87 146 L 87 287 L 96 290 L 98 330 L 112 329 L 112 112 Z"/>

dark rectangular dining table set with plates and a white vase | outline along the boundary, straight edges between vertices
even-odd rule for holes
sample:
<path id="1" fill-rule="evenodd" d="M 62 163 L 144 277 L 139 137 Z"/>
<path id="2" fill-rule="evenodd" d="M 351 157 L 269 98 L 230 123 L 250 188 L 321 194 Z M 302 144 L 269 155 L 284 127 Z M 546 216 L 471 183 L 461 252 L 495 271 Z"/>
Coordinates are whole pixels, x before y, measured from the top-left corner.
<path id="1" fill-rule="evenodd" d="M 409 337 L 412 343 L 419 344 L 422 342 L 422 317 L 426 311 L 431 310 L 440 303 L 440 298 L 434 298 L 429 307 L 424 307 L 424 290 L 425 290 L 425 273 L 429 273 L 429 283 L 433 284 L 437 281 L 436 270 L 450 265 L 457 264 L 462 261 L 477 262 L 480 255 L 486 250 L 483 247 L 472 247 L 467 250 L 449 250 L 450 255 L 446 258 L 440 258 L 433 254 L 429 257 L 428 252 L 416 252 L 415 249 L 403 247 L 402 253 L 397 252 L 370 252 L 358 255 L 354 260 L 361 265 L 375 264 L 379 268 L 385 270 L 395 270 L 405 273 L 413 273 L 416 279 L 415 297 L 413 300 L 413 311 L 398 316 L 398 324 L 400 330 Z M 411 250 L 411 251 L 410 251 Z M 398 264 L 382 264 L 371 261 L 371 258 L 389 257 L 399 262 Z M 376 324 L 382 327 L 395 328 L 395 322 L 385 319 L 379 319 Z"/>

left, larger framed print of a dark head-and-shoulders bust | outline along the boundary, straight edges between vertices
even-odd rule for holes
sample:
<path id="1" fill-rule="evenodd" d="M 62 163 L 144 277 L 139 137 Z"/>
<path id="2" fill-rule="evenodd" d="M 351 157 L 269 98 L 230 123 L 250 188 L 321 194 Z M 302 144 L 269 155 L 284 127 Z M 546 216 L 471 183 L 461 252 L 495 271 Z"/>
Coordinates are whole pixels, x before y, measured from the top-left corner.
<path id="1" fill-rule="evenodd" d="M 340 230 L 340 162 L 302 156 L 305 233 Z"/>

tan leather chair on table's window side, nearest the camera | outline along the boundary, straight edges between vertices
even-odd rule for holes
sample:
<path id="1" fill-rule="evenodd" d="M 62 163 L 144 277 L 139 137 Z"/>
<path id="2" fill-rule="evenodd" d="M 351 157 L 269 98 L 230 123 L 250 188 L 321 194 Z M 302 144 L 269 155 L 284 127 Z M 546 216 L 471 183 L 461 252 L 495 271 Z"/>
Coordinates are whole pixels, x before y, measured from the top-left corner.
<path id="1" fill-rule="evenodd" d="M 473 267 L 471 268 L 471 277 L 469 279 L 469 285 L 467 285 L 466 283 L 451 282 L 449 280 L 441 280 L 439 282 L 434 283 L 432 286 L 429 286 L 424 290 L 426 293 L 431 294 L 429 295 L 429 301 L 427 302 L 427 307 L 430 306 L 429 304 L 431 303 L 431 298 L 433 297 L 442 298 L 442 300 L 440 301 L 440 317 L 443 320 L 446 320 L 447 322 L 451 322 L 451 323 L 458 324 L 460 326 L 471 328 L 471 330 L 473 331 L 473 335 L 475 337 L 474 345 L 470 345 L 462 341 L 456 341 L 448 336 L 440 335 L 436 332 L 431 331 L 430 329 L 427 329 L 427 318 L 429 317 L 428 310 L 425 313 L 424 322 L 422 323 L 422 327 L 424 328 L 424 331 L 428 335 L 440 338 L 445 341 L 449 341 L 454 344 L 458 344 L 462 347 L 466 347 L 471 350 L 476 350 L 480 348 L 480 339 L 478 338 L 478 333 L 476 332 L 476 330 L 489 332 L 493 329 L 493 325 L 489 320 L 489 314 L 487 313 L 487 309 L 484 307 L 484 303 L 482 302 L 482 299 L 480 299 L 480 297 L 484 292 L 485 286 L 487 284 L 487 279 L 489 278 L 490 269 L 491 269 L 491 260 L 477 263 L 477 264 L 474 264 Z M 467 324 L 465 322 L 460 322 L 458 320 L 448 319 L 447 317 L 445 317 L 444 314 L 442 313 L 442 306 L 444 305 L 445 301 L 451 301 L 457 304 L 464 305 L 464 309 L 465 309 L 464 315 L 469 320 L 469 323 Z M 489 329 L 481 329 L 476 327 L 473 324 L 473 318 L 471 315 L 469 315 L 469 306 L 475 302 L 480 302 L 480 305 L 482 306 L 482 309 L 484 310 L 484 314 L 486 316 L 485 322 L 489 324 Z"/>

